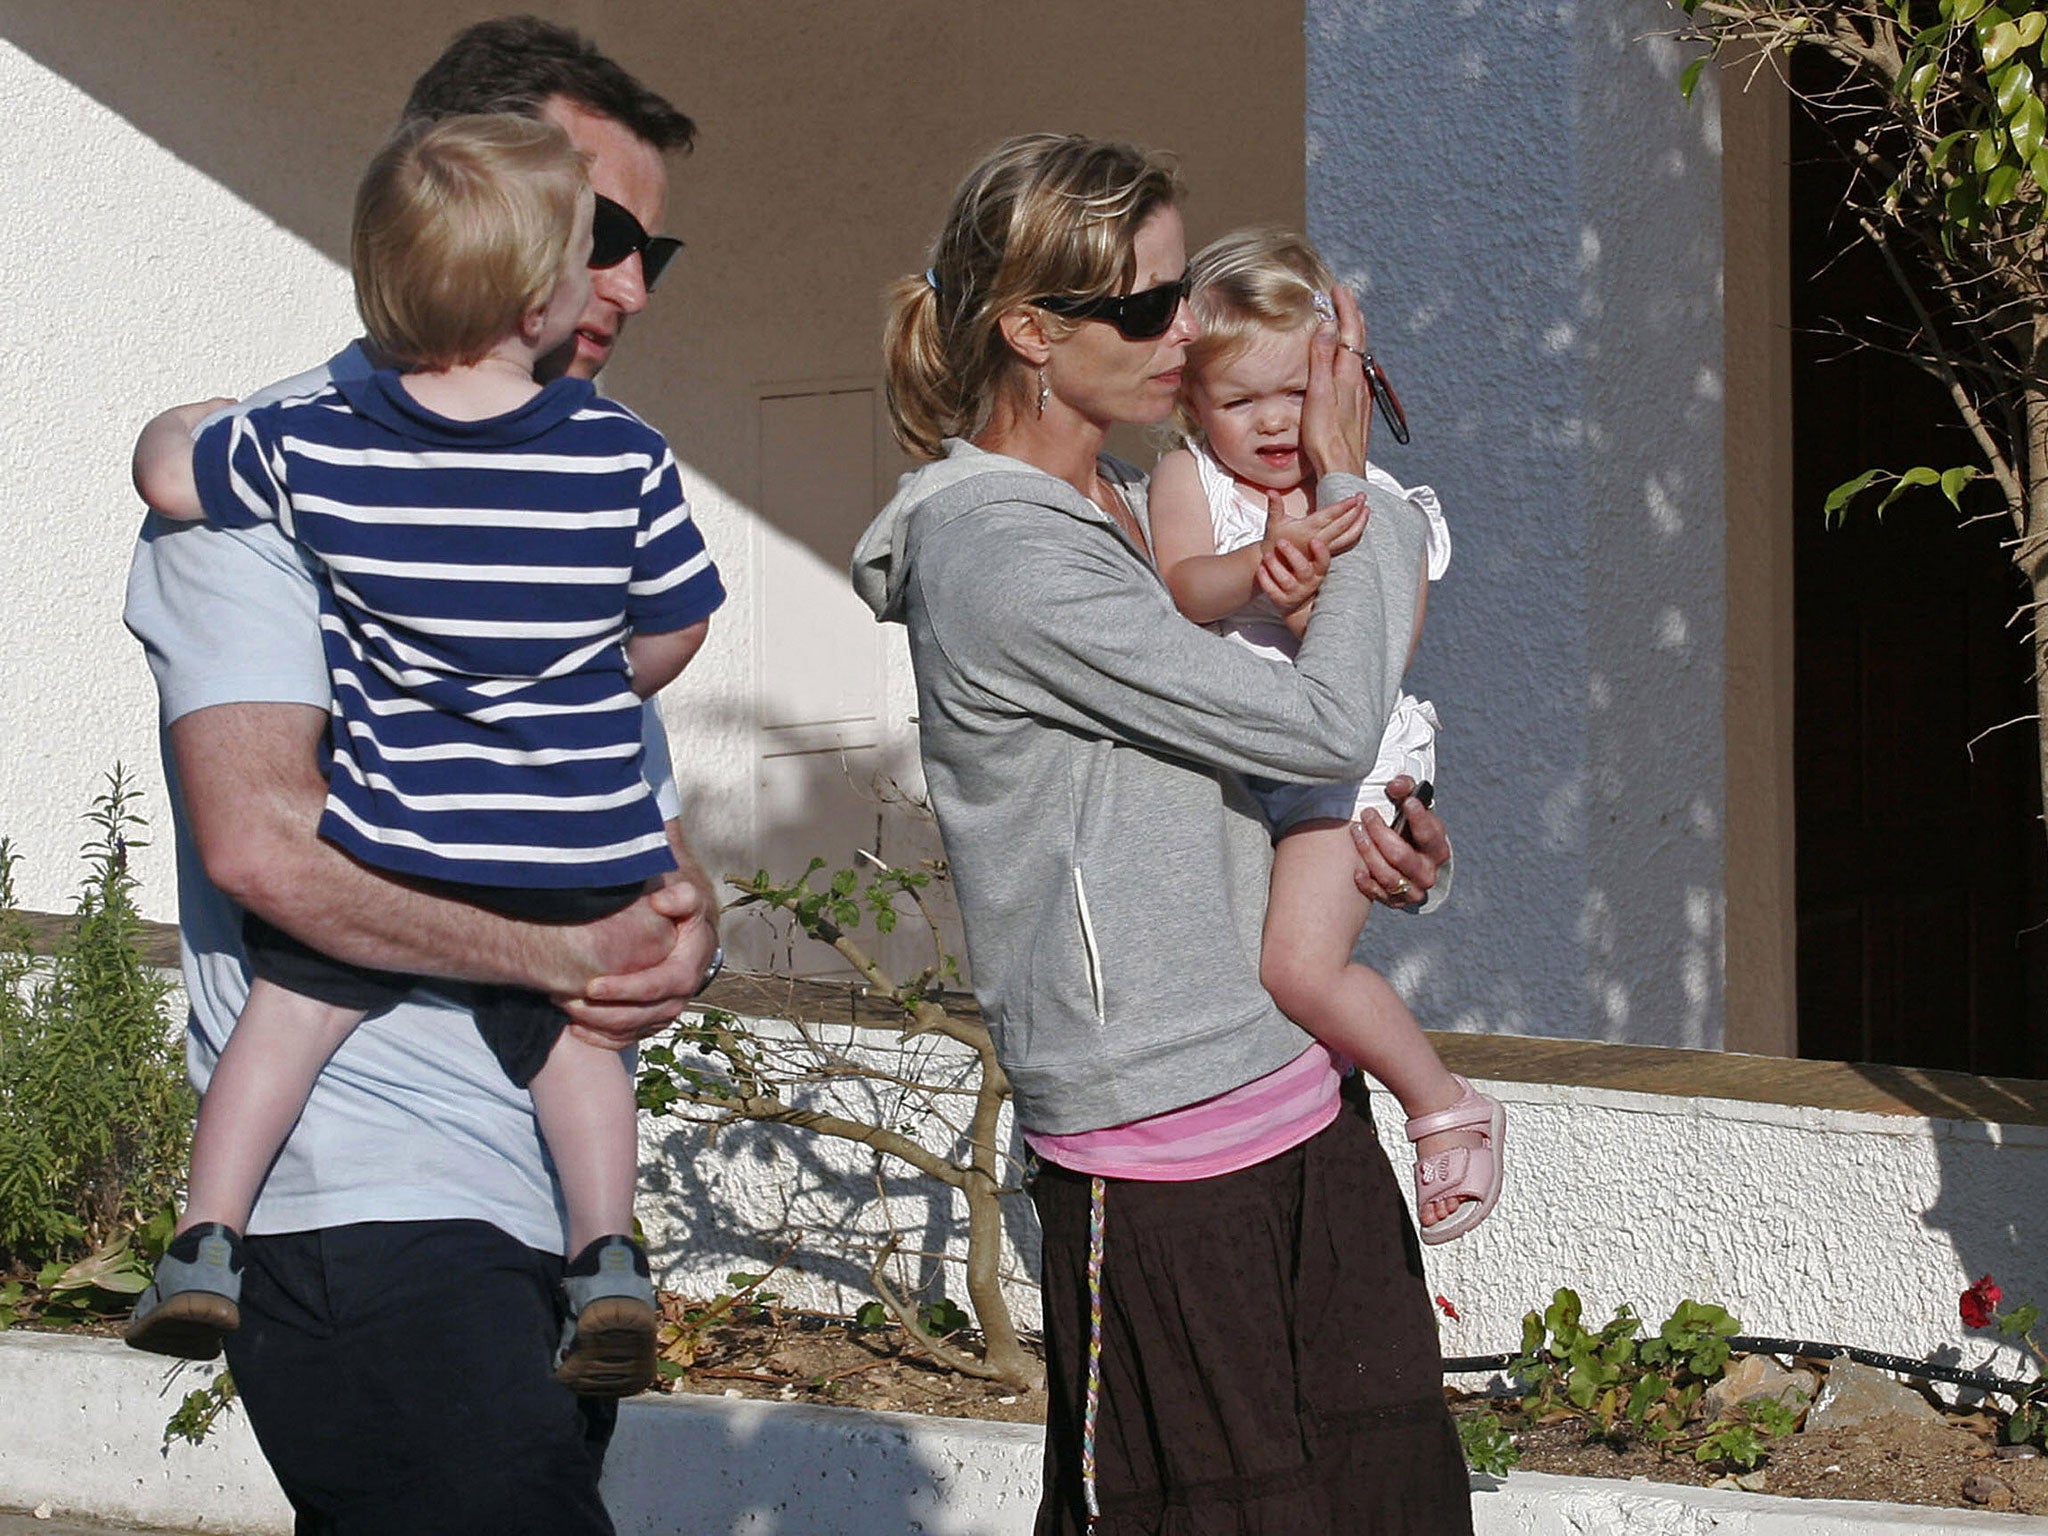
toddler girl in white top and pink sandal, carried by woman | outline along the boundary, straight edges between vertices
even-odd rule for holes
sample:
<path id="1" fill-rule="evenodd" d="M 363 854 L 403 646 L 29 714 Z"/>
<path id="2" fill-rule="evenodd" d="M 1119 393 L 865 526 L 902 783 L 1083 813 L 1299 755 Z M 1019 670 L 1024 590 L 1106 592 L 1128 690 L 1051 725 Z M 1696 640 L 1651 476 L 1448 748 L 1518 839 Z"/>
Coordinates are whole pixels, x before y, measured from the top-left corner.
<path id="1" fill-rule="evenodd" d="M 1315 506 L 1300 457 L 1300 401 L 1309 344 L 1331 313 L 1335 279 L 1305 240 L 1245 231 L 1202 250 L 1188 281 L 1202 336 L 1188 350 L 1178 410 L 1186 446 L 1159 463 L 1151 483 L 1159 569 L 1184 614 L 1292 662 L 1331 555 L 1288 524 Z M 1409 492 L 1378 467 L 1366 477 L 1430 518 L 1434 582 L 1450 561 L 1436 494 Z M 1337 547 L 1356 541 L 1352 530 Z M 1401 694 L 1364 782 L 1251 780 L 1251 791 L 1276 840 L 1260 979 L 1288 1018 L 1401 1100 L 1417 1153 L 1421 1239 L 1446 1243 L 1485 1221 L 1499 1198 L 1503 1114 L 1444 1069 L 1384 977 L 1350 958 L 1372 903 L 1352 885 L 1356 850 L 1346 829 L 1364 811 L 1393 823 L 1386 780 L 1407 774 L 1427 795 L 1434 772 L 1436 711 Z"/>

